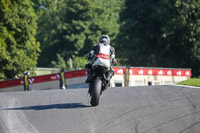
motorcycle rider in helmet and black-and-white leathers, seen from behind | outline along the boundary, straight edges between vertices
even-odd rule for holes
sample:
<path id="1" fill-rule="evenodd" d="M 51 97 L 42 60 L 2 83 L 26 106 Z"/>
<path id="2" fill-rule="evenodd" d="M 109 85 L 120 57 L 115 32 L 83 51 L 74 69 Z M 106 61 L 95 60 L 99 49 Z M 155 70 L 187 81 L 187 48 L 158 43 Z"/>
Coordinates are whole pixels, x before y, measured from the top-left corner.
<path id="1" fill-rule="evenodd" d="M 93 49 L 86 54 L 86 58 L 89 59 L 89 62 L 86 64 L 88 77 L 85 83 L 90 83 L 92 80 L 92 63 L 94 62 L 94 57 L 101 56 L 104 59 L 110 59 L 111 64 L 116 64 L 115 59 L 115 49 L 110 45 L 110 38 L 108 35 L 102 35 L 99 38 L 99 43 L 95 44 Z M 110 81 L 111 77 L 114 75 L 112 67 L 106 75 L 106 81 Z"/>

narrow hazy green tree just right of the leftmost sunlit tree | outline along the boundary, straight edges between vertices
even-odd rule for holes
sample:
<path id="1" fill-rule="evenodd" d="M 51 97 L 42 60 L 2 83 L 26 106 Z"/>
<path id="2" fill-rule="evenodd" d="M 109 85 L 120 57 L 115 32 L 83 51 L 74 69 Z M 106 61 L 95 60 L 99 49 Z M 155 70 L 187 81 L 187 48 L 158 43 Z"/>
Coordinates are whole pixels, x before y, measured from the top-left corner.
<path id="1" fill-rule="evenodd" d="M 50 67 L 51 61 L 57 60 L 58 41 L 60 37 L 60 27 L 63 25 L 63 18 L 67 0 L 34 0 L 35 10 L 38 15 L 37 40 L 41 44 L 41 54 L 38 66 Z M 60 53 L 58 53 L 60 55 Z"/>

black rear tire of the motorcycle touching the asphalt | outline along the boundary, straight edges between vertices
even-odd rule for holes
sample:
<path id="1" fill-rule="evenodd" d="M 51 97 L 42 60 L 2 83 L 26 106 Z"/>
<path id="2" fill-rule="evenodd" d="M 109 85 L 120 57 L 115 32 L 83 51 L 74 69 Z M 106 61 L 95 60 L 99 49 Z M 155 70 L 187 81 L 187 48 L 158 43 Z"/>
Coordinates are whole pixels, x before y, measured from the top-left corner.
<path id="1" fill-rule="evenodd" d="M 99 97 L 101 93 L 101 83 L 102 81 L 100 79 L 95 79 L 93 82 L 93 88 L 92 88 L 92 97 L 90 104 L 92 106 L 97 106 L 99 105 Z"/>

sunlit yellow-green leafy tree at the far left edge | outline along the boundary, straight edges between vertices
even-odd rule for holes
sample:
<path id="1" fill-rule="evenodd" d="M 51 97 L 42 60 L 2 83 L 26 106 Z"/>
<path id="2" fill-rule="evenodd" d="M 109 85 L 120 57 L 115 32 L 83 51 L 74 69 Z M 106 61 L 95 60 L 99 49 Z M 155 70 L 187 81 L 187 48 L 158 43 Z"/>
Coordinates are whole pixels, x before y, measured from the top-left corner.
<path id="1" fill-rule="evenodd" d="M 0 78 L 13 78 L 37 64 L 40 49 L 33 5 L 29 0 L 0 0 Z"/>

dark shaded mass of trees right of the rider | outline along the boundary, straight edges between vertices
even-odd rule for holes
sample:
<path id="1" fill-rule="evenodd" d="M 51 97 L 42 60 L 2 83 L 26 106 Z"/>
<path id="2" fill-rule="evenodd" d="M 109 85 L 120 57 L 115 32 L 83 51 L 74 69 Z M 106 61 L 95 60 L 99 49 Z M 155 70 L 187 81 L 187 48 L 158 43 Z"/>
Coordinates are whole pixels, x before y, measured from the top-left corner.
<path id="1" fill-rule="evenodd" d="M 127 0 L 121 13 L 118 48 L 122 61 L 134 66 L 200 69 L 200 2 Z"/>

